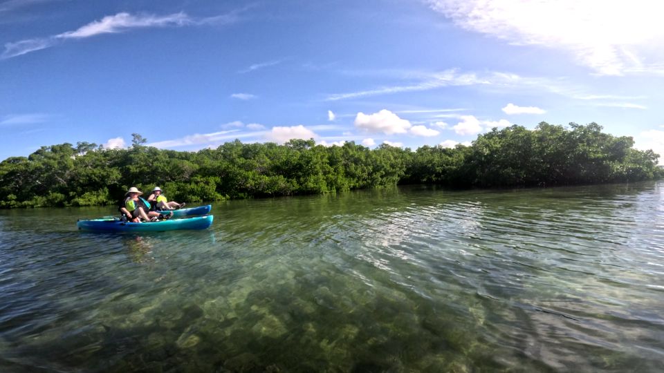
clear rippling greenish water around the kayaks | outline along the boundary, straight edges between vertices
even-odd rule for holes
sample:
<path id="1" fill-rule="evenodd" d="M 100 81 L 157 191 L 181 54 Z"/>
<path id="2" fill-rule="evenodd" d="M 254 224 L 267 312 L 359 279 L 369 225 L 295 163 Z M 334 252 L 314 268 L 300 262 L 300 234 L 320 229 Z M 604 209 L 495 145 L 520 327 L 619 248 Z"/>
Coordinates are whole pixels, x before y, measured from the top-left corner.
<path id="1" fill-rule="evenodd" d="M 661 372 L 664 182 L 0 211 L 2 372 Z"/>

